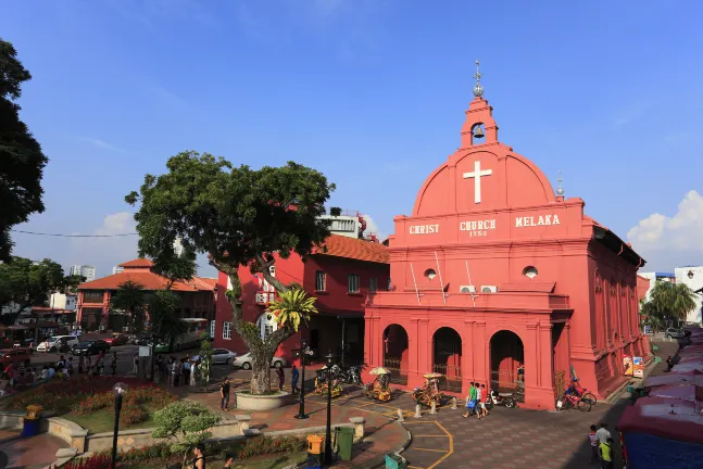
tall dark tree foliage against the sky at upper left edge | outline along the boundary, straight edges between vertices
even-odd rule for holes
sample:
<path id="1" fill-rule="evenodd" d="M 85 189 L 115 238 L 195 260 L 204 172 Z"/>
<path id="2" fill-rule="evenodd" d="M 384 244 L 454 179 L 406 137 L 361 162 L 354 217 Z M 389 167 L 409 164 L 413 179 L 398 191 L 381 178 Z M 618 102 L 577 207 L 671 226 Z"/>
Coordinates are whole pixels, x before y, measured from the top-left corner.
<path id="1" fill-rule="evenodd" d="M 32 75 L 14 47 L 0 38 L 0 261 L 12 252 L 10 229 L 43 212 L 41 177 L 48 159 L 20 119 L 22 84 Z"/>

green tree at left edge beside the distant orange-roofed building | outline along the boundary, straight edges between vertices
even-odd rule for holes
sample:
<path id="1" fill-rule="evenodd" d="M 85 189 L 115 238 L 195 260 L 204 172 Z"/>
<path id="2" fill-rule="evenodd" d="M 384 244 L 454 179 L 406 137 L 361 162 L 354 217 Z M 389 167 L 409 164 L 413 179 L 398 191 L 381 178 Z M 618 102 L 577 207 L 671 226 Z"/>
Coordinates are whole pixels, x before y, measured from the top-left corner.
<path id="1" fill-rule="evenodd" d="M 76 288 L 85 277 L 66 276 L 60 264 L 43 259 L 35 263 L 24 257 L 12 257 L 0 263 L 0 306 L 14 303 L 17 314 L 27 306 L 43 305 L 49 294 Z M 3 316 L 14 322 L 16 314 Z"/>

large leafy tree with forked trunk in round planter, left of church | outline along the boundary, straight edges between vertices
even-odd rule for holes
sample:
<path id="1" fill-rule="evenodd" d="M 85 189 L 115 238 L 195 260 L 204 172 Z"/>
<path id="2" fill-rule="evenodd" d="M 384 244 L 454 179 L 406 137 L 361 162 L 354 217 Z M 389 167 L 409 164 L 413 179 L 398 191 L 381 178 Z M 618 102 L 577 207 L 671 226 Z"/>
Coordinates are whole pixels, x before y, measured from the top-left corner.
<path id="1" fill-rule="evenodd" d="M 254 170 L 208 153 L 183 152 L 166 167 L 161 176 L 147 175 L 139 192 L 126 198 L 141 204 L 135 215 L 139 251 L 159 264 L 172 255 L 178 237 L 187 250 L 206 253 L 211 265 L 229 277 L 233 327 L 252 353 L 251 392 L 267 393 L 271 359 L 294 333 L 296 322 L 281 324 L 263 339 L 259 328 L 244 320 L 238 269 L 261 271 L 279 293 L 286 292 L 288 286 L 271 275 L 274 254 L 287 258 L 296 252 L 304 257 L 323 243 L 329 221 L 319 216 L 335 185 L 293 162 Z"/>

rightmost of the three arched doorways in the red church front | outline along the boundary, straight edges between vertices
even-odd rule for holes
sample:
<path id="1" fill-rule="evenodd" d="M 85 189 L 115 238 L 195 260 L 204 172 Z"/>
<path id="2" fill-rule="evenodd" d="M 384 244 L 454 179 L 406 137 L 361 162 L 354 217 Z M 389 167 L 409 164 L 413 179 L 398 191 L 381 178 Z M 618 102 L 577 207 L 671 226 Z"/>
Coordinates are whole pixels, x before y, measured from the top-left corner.
<path id="1" fill-rule="evenodd" d="M 525 347 L 512 331 L 498 331 L 491 338 L 491 389 L 513 393 L 516 401 L 525 402 L 524 377 L 518 376 L 518 365 L 525 364 Z"/>

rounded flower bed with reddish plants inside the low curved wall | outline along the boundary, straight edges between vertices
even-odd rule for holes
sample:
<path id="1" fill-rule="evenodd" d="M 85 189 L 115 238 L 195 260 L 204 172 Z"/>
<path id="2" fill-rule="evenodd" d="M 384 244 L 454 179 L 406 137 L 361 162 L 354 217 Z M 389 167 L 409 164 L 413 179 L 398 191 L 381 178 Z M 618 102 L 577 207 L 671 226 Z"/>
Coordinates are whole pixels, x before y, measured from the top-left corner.
<path id="1" fill-rule="evenodd" d="M 72 415 L 95 414 L 98 418 L 101 410 L 114 409 L 115 398 L 112 386 L 117 382 L 124 382 L 129 386 L 120 414 L 120 423 L 125 429 L 146 421 L 149 418 L 149 410 L 158 410 L 178 400 L 154 383 L 137 378 L 77 377 L 68 381 L 49 381 L 45 385 L 20 394 L 9 407 L 24 410 L 30 404 L 39 404 L 45 409 L 54 410 L 68 420 Z M 84 420 L 81 419 L 81 423 Z M 92 430 L 96 431 L 96 429 Z"/>

